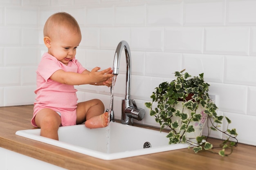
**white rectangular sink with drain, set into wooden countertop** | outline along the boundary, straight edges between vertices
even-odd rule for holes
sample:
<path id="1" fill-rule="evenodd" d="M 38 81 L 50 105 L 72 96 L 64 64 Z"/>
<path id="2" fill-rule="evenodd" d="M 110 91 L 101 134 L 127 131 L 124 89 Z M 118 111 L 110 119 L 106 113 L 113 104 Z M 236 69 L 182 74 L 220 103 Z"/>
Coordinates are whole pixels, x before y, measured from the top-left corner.
<path id="1" fill-rule="evenodd" d="M 40 129 L 19 130 L 16 135 L 79 152 L 104 160 L 188 148 L 187 144 L 168 144 L 166 132 L 110 122 L 106 128 L 89 129 L 84 124 L 63 126 L 59 141 L 40 136 Z"/>

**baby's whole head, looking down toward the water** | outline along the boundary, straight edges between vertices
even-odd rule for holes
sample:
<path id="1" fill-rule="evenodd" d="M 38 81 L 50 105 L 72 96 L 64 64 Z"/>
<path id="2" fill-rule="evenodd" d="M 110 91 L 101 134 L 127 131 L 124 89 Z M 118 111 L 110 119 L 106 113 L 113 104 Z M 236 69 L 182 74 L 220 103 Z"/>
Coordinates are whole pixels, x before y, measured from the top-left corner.
<path id="1" fill-rule="evenodd" d="M 81 30 L 74 17 L 61 12 L 48 18 L 44 27 L 44 43 L 50 55 L 67 65 L 75 57 L 80 42 Z"/>

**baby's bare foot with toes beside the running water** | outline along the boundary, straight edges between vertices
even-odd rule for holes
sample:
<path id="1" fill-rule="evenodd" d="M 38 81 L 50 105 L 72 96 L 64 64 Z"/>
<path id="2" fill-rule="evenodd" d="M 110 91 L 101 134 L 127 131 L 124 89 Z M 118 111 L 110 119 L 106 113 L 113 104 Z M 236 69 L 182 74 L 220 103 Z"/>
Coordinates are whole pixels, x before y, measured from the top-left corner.
<path id="1" fill-rule="evenodd" d="M 104 128 L 108 126 L 108 112 L 105 112 L 99 116 L 94 116 L 85 121 L 87 128 Z"/>

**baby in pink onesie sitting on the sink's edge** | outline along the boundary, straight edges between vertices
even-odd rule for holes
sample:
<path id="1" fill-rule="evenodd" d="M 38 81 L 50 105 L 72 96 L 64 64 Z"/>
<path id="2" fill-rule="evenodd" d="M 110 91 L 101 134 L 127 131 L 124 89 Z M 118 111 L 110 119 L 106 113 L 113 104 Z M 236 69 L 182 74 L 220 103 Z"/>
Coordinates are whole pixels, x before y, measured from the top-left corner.
<path id="1" fill-rule="evenodd" d="M 68 13 L 55 13 L 44 26 L 44 43 L 48 48 L 38 65 L 36 102 L 31 124 L 41 128 L 41 136 L 58 140 L 58 127 L 81 124 L 87 128 L 108 125 L 108 113 L 99 99 L 77 103 L 74 85 L 112 84 L 112 69 L 88 71 L 75 59 L 81 42 L 81 30 Z"/>

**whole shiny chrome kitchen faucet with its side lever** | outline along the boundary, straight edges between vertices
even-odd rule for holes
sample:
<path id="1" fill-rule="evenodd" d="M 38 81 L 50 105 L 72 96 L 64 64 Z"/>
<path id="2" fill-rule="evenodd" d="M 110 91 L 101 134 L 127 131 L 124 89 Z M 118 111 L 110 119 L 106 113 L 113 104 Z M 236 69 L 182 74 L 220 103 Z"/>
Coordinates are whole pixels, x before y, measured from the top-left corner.
<path id="1" fill-rule="evenodd" d="M 117 45 L 117 49 L 114 57 L 113 73 L 115 75 L 119 74 L 119 63 L 121 58 L 121 52 L 124 48 L 126 55 L 126 93 L 125 98 L 122 99 L 122 113 L 121 113 L 121 123 L 122 124 L 133 124 L 133 118 L 137 120 L 142 120 L 145 115 L 145 110 L 138 108 L 134 99 L 131 99 L 131 56 L 130 47 L 126 41 L 121 41 Z M 113 106 L 113 104 L 112 104 Z M 113 110 L 113 109 L 112 109 Z M 114 121 L 114 112 L 110 113 L 110 121 Z"/>

